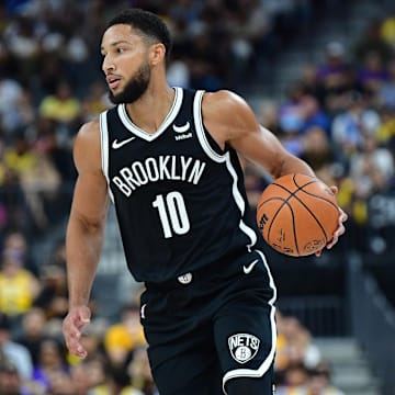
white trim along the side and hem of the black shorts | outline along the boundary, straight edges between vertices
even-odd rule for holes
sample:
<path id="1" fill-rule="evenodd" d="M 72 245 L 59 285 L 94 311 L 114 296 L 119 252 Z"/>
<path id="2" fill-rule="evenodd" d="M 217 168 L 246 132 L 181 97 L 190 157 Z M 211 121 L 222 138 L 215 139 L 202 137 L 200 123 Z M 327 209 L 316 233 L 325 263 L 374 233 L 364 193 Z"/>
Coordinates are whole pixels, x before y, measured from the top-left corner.
<path id="1" fill-rule="evenodd" d="M 224 394 L 227 394 L 225 386 L 226 386 L 226 383 L 232 379 L 237 379 L 237 377 L 258 379 L 258 377 L 261 377 L 269 370 L 271 364 L 273 363 L 274 356 L 275 356 L 276 329 L 275 329 L 275 321 L 274 321 L 274 315 L 275 315 L 274 302 L 276 300 L 276 289 L 275 289 L 273 278 L 272 278 L 272 274 L 270 272 L 270 269 L 269 269 L 269 266 L 268 266 L 268 262 L 266 260 L 266 257 L 264 257 L 263 252 L 259 251 L 259 250 L 256 250 L 256 251 L 262 258 L 263 264 L 264 264 L 266 270 L 267 270 L 268 275 L 269 275 L 270 287 L 273 290 L 273 296 L 269 301 L 269 305 L 271 307 L 270 308 L 271 348 L 270 348 L 268 357 L 266 358 L 266 360 L 262 362 L 262 364 L 257 370 L 253 370 L 253 369 L 235 369 L 235 370 L 226 372 L 224 377 L 223 377 L 223 392 L 224 392 Z"/>

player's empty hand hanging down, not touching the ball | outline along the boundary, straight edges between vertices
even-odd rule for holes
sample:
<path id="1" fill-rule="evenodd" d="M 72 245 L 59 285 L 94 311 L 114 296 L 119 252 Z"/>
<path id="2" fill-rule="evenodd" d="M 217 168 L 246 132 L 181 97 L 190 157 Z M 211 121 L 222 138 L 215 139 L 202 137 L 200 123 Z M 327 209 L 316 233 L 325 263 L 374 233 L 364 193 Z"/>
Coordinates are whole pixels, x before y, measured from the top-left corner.
<path id="1" fill-rule="evenodd" d="M 87 350 L 81 343 L 82 329 L 90 323 L 91 312 L 87 306 L 71 307 L 63 323 L 66 346 L 72 356 L 86 358 Z"/>

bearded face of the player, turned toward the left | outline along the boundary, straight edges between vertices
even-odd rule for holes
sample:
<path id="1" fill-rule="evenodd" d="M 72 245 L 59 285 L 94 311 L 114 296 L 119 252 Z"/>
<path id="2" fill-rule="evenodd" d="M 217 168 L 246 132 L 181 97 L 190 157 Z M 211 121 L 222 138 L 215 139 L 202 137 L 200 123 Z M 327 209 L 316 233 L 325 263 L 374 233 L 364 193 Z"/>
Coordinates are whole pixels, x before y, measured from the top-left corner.
<path id="1" fill-rule="evenodd" d="M 110 100 L 114 104 L 138 100 L 150 79 L 147 46 L 143 38 L 128 25 L 114 25 L 105 31 L 101 50 Z"/>

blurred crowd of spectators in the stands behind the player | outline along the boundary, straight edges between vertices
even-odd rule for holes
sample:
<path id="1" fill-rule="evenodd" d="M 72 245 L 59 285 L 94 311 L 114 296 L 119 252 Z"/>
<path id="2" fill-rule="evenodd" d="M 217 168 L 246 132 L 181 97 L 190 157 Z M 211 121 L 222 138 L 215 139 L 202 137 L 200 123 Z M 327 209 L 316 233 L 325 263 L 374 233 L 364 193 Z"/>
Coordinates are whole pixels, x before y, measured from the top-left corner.
<path id="1" fill-rule="evenodd" d="M 31 245 L 67 215 L 79 126 L 110 106 L 100 70 L 105 22 L 125 7 L 161 14 L 174 36 L 170 84 L 238 90 L 262 61 L 313 23 L 315 0 L 19 0 L 0 4 L 0 393 L 157 394 L 139 326 L 138 294 L 117 318 L 94 319 L 89 358 L 67 354 L 64 240 L 37 261 Z M 319 64 L 305 65 L 282 101 L 262 101 L 257 116 L 286 149 L 328 184 L 359 236 L 369 202 L 394 193 L 395 10 L 373 21 L 352 47 L 329 42 Z M 262 92 L 264 94 L 264 92 Z M 248 100 L 248 98 L 246 98 Z M 268 178 L 246 163 L 251 206 Z M 350 229 L 349 229 L 350 232 Z M 364 238 L 360 248 L 368 248 Z M 329 395 L 330 366 L 307 328 L 278 314 L 275 362 L 281 395 Z"/>

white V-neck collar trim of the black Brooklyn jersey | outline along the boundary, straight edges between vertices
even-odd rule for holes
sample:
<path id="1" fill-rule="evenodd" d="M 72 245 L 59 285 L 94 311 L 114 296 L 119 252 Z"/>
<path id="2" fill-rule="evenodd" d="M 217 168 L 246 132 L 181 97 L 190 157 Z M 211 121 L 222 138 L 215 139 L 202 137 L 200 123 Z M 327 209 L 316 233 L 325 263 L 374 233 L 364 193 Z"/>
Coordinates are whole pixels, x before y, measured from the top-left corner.
<path id="1" fill-rule="evenodd" d="M 159 128 L 155 133 L 147 133 L 139 128 L 137 125 L 135 125 L 132 120 L 128 117 L 126 112 L 126 104 L 120 104 L 117 106 L 117 113 L 120 115 L 120 120 L 122 124 L 134 135 L 145 139 L 146 142 L 153 142 L 156 138 L 158 138 L 161 134 L 165 133 L 165 131 L 169 127 L 169 125 L 176 120 L 176 116 L 178 115 L 181 104 L 182 104 L 182 98 L 183 98 L 183 90 L 182 88 L 174 88 L 174 100 L 172 102 L 171 109 L 169 113 L 167 114 L 165 121 L 161 123 Z"/>

